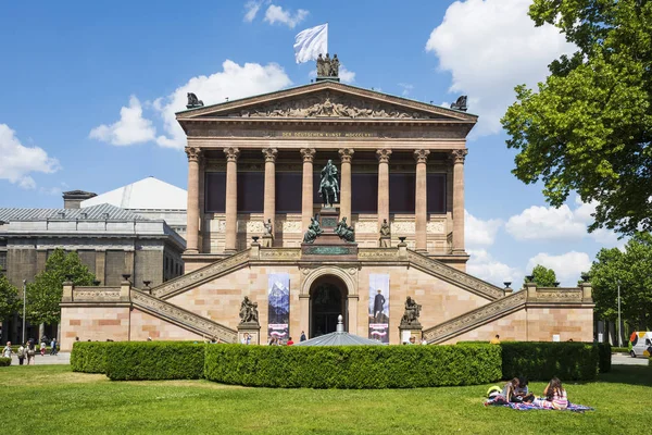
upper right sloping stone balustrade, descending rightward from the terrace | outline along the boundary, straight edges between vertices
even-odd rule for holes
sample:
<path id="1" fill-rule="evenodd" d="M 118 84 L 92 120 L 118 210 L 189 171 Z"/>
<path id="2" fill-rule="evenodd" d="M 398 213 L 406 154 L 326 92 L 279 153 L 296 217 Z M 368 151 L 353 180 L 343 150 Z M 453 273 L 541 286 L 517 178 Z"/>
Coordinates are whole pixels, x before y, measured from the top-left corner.
<path id="1" fill-rule="evenodd" d="M 500 287 L 443 264 L 440 261 L 429 259 L 421 253 L 409 250 L 408 260 L 410 261 L 410 265 L 489 300 L 500 299 L 505 295 L 504 290 Z"/>

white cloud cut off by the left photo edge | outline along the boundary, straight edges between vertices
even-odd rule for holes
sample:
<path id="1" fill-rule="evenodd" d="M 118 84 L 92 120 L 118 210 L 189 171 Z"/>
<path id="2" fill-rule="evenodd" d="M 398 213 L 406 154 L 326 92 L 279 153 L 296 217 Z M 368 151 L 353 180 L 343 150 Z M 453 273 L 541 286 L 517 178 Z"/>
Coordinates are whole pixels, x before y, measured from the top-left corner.
<path id="1" fill-rule="evenodd" d="M 25 147 L 7 124 L 0 124 L 0 179 L 8 179 L 24 189 L 34 189 L 29 173 L 51 174 L 60 169 L 59 161 L 38 147 Z"/>

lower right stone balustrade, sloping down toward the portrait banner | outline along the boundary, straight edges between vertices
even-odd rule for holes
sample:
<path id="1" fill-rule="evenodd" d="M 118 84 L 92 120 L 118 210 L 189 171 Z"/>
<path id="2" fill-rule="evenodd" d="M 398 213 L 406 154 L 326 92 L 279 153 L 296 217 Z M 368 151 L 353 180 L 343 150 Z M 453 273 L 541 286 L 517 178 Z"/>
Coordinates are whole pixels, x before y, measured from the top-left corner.
<path id="1" fill-rule="evenodd" d="M 430 345 L 443 343 L 465 332 L 518 311 L 525 307 L 526 302 L 527 290 L 516 291 L 439 325 L 424 330 L 424 338 Z"/>

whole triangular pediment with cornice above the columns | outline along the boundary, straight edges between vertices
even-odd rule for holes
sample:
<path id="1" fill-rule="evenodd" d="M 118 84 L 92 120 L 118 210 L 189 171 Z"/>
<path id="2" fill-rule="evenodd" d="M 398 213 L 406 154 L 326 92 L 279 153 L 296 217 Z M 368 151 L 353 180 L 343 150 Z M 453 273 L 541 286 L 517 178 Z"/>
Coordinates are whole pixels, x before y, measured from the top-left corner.
<path id="1" fill-rule="evenodd" d="M 319 82 L 292 89 L 243 98 L 177 113 L 177 119 L 349 119 L 437 120 L 469 122 L 477 116 L 457 110 L 362 89 L 337 82 Z"/>

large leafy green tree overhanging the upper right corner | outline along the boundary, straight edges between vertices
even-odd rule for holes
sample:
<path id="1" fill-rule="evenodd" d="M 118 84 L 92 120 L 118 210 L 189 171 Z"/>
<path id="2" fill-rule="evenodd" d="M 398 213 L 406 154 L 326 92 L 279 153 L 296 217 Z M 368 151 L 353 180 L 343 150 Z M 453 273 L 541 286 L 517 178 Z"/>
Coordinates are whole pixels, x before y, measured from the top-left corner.
<path id="1" fill-rule="evenodd" d="M 549 65 L 538 92 L 516 87 L 502 119 L 519 151 L 512 172 L 542 181 L 554 207 L 570 191 L 594 201 L 589 231 L 652 229 L 652 2 L 535 0 L 529 15 L 577 51 Z"/>

